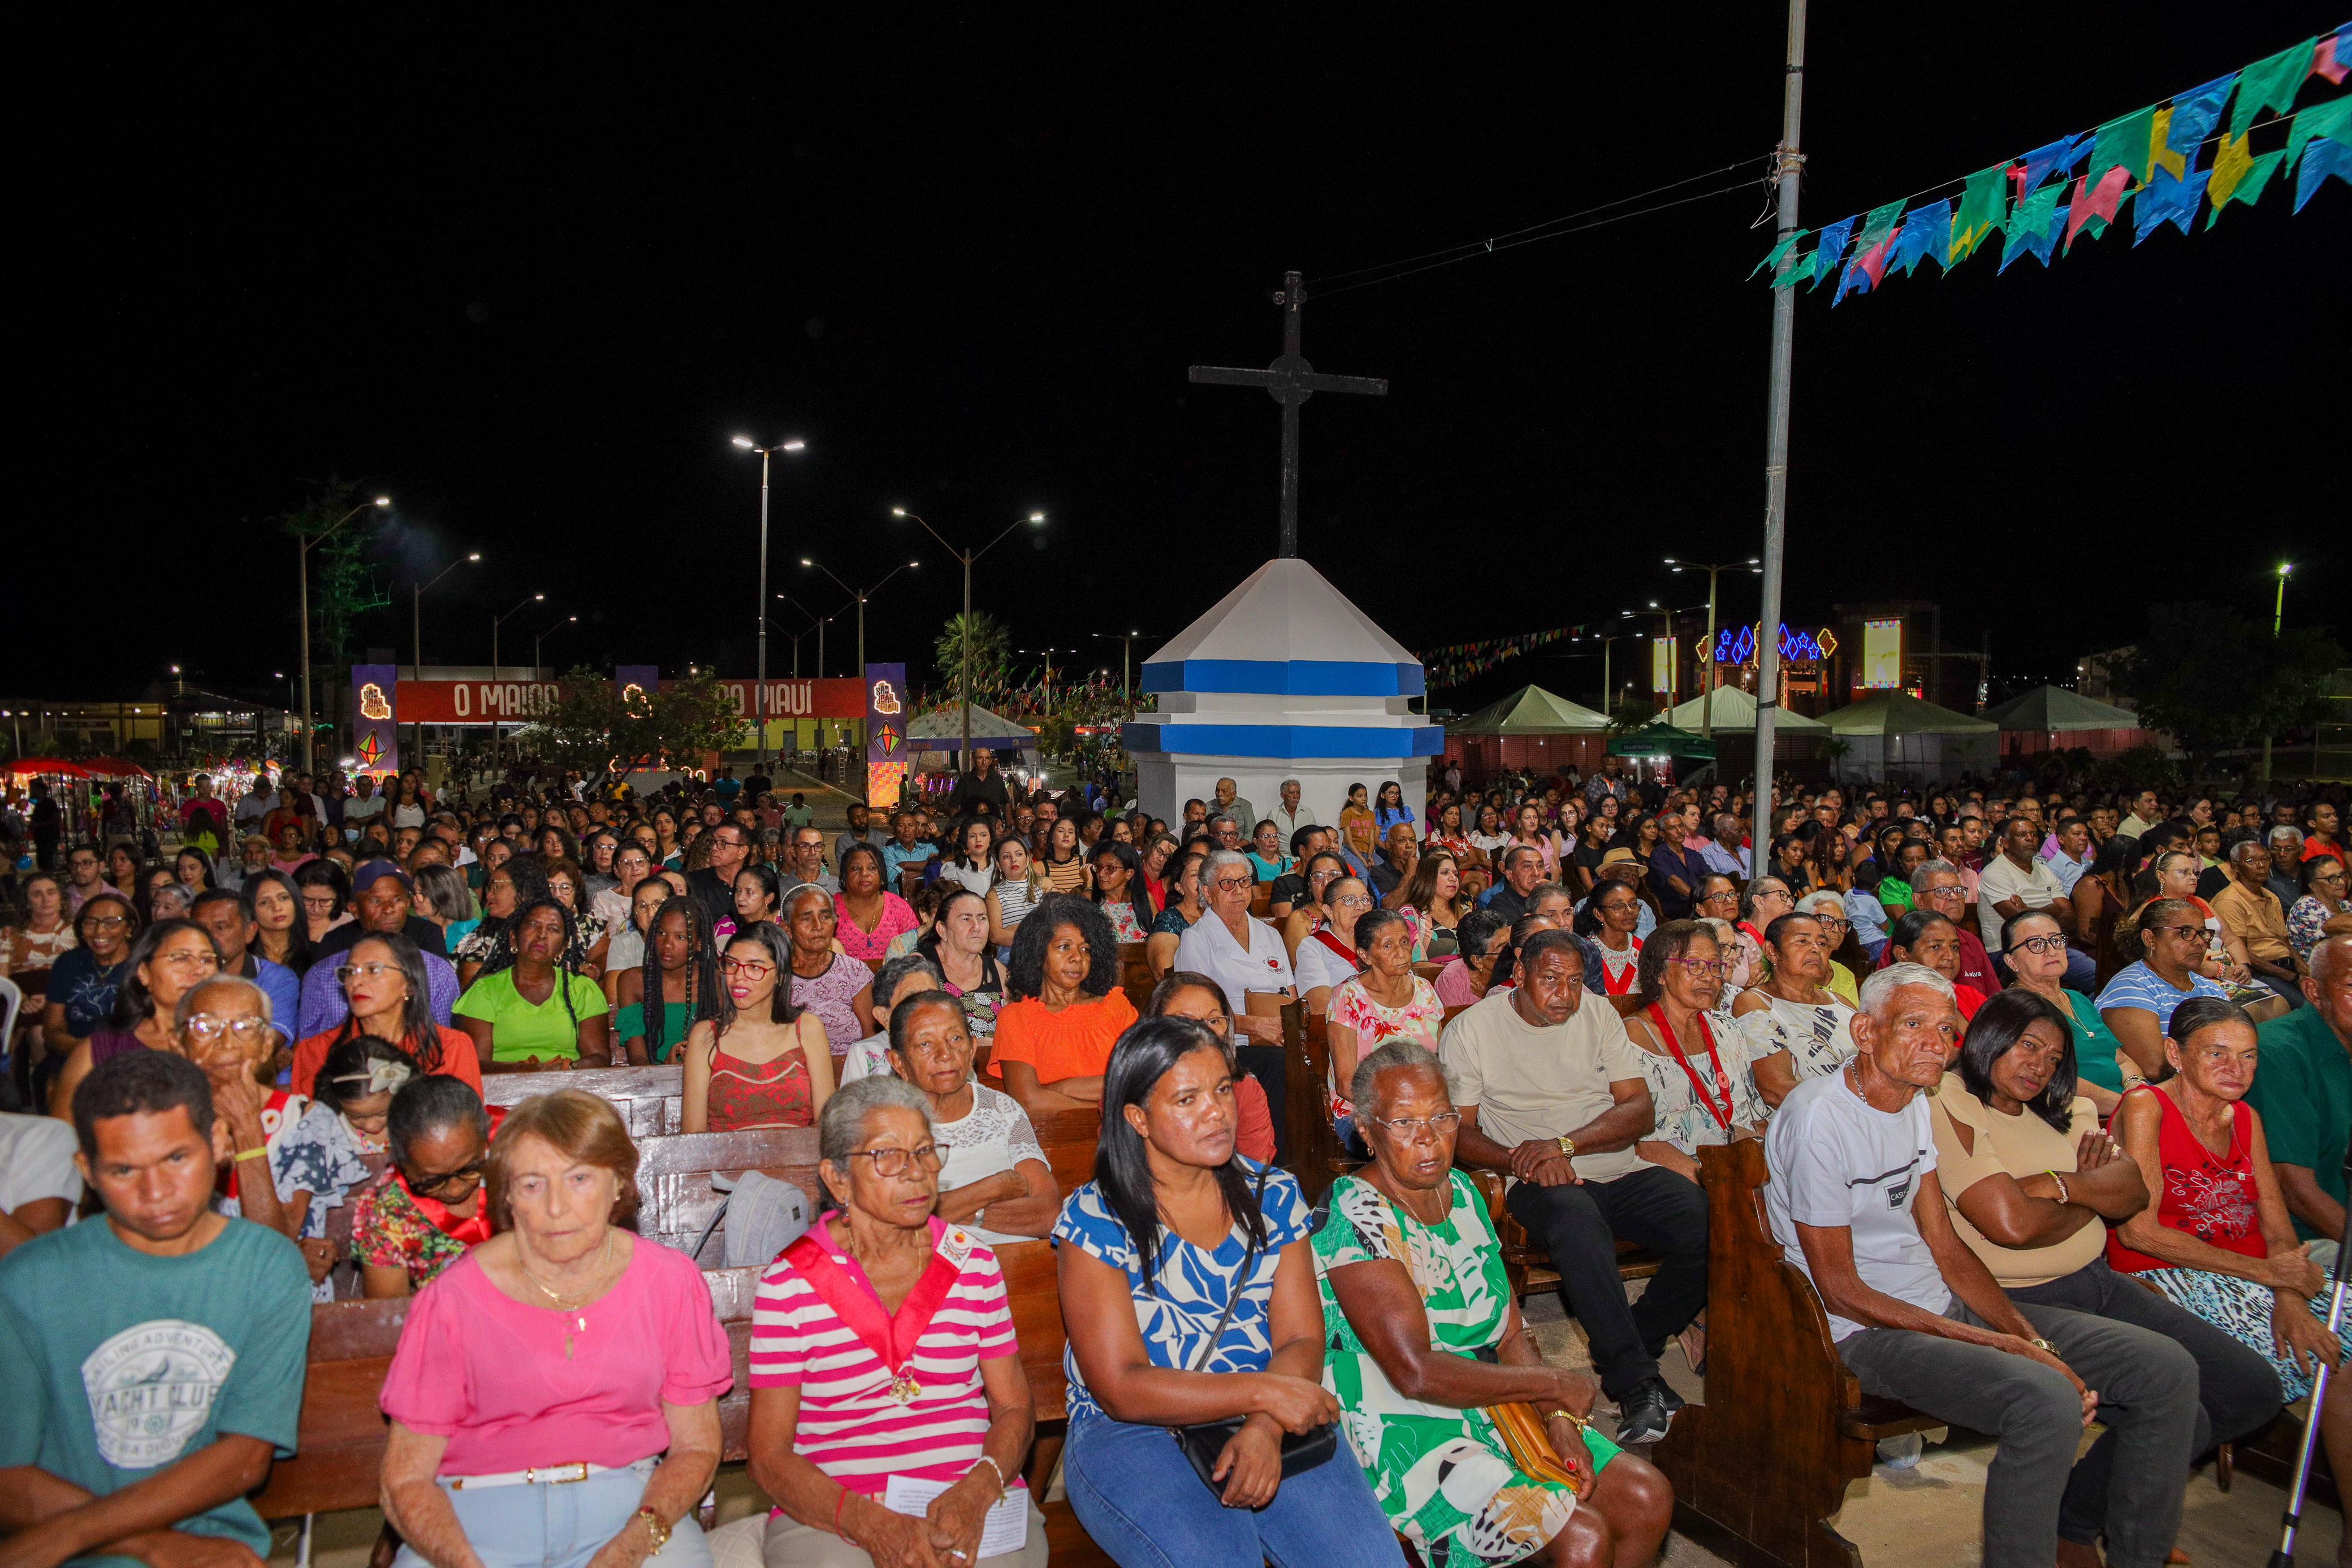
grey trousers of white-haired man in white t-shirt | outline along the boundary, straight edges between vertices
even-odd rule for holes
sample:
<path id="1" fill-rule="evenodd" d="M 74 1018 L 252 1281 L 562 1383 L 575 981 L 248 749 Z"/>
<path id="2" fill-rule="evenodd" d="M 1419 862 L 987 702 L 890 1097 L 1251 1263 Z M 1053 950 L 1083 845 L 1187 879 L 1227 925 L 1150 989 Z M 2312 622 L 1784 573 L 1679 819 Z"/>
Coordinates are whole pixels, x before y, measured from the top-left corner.
<path id="1" fill-rule="evenodd" d="M 1985 1474 L 1983 1568 L 2049 1568 L 2058 1559 L 2058 1509 L 2070 1497 L 2107 1537 L 2110 1568 L 2161 1568 L 2180 1533 L 2180 1495 L 2204 1425 L 2197 1359 L 2136 1324 L 2032 1302 L 2018 1302 L 2018 1312 L 2098 1392 L 2107 1434 L 2093 1453 L 2107 1455 L 2105 1474 L 2086 1490 L 2105 1495 L 2072 1493 L 2082 1396 L 2053 1368 L 1907 1328 L 1851 1333 L 1837 1354 L 1867 1394 L 1999 1439 Z M 1945 1316 L 1987 1328 L 1959 1300 Z"/>

